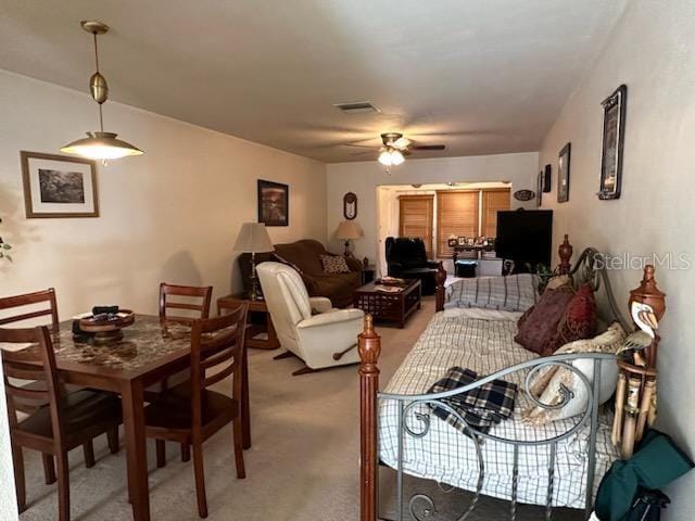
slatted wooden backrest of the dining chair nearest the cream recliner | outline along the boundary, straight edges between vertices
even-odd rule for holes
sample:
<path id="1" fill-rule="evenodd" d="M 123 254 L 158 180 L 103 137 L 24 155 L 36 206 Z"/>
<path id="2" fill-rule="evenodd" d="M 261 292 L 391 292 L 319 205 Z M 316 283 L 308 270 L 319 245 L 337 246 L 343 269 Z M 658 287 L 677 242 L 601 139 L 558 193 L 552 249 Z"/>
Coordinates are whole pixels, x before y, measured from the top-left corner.
<path id="1" fill-rule="evenodd" d="M 191 410 L 193 429 L 202 421 L 203 391 L 232 376 L 232 397 L 241 396 L 243 356 L 249 304 L 241 303 L 231 313 L 191 322 Z"/>

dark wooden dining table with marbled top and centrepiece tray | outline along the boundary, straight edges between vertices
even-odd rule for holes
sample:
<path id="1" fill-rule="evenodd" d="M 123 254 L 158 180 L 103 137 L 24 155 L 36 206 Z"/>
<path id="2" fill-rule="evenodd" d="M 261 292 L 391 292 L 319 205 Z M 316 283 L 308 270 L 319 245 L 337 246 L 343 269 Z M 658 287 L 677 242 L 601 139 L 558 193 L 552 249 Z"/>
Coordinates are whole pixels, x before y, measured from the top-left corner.
<path id="1" fill-rule="evenodd" d="M 190 368 L 191 328 L 185 323 L 162 321 L 159 316 L 136 314 L 135 322 L 124 328 L 123 333 L 123 339 L 117 342 L 99 344 L 88 336 L 75 336 L 73 320 L 66 320 L 52 333 L 53 350 L 62 381 L 121 395 L 128 500 L 132 507 L 132 519 L 149 521 L 146 390 Z M 27 354 L 37 348 L 36 345 L 25 347 Z M 250 448 L 249 364 L 245 346 L 242 347 L 241 376 L 242 444 L 243 448 Z"/>

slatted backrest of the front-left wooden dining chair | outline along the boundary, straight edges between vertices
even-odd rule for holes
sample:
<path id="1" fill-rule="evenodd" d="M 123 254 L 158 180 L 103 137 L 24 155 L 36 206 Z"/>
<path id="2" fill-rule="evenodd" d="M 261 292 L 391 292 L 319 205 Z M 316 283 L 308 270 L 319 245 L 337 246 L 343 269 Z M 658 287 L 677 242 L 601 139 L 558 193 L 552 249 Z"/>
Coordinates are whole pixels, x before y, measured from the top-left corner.
<path id="1" fill-rule="evenodd" d="M 1 328 L 0 344 L 3 343 L 37 344 L 28 351 L 0 350 L 10 427 L 16 428 L 18 424 L 15 398 L 48 403 L 51 409 L 53 440 L 56 446 L 60 446 L 64 432 L 61 418 L 61 389 L 49 329 L 46 326 L 23 329 Z M 41 368 L 37 368 L 36 363 L 39 363 Z M 31 382 L 31 385 L 27 386 L 26 382 Z"/>

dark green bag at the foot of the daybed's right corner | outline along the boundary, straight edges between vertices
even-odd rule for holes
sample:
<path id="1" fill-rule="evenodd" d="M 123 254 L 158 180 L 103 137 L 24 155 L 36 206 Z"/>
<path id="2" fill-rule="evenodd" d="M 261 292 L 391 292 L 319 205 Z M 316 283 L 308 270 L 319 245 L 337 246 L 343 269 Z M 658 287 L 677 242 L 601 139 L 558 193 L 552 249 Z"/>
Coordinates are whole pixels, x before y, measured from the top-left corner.
<path id="1" fill-rule="evenodd" d="M 596 495 L 596 516 L 601 521 L 629 521 L 640 490 L 661 488 L 693 467 L 668 435 L 647 431 L 632 458 L 614 462 L 604 475 Z"/>

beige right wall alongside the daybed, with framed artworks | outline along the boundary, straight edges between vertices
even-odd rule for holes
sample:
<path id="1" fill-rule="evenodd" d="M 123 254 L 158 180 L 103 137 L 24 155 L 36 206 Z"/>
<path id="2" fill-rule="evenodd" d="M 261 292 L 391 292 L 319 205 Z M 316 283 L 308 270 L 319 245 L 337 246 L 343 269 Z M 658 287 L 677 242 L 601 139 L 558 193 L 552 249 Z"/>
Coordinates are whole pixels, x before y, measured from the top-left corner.
<path id="1" fill-rule="evenodd" d="M 540 165 L 553 164 L 555 243 L 568 232 L 574 251 L 589 244 L 612 254 L 684 253 L 695 262 L 695 2 L 639 0 L 628 4 L 599 60 L 547 136 Z M 598 201 L 601 101 L 628 85 L 622 195 Z M 556 202 L 557 154 L 571 141 L 570 200 Z M 678 263 L 684 267 L 684 263 Z M 610 272 L 619 298 L 636 285 L 637 269 Z M 659 354 L 662 429 L 695 453 L 695 271 L 657 267 L 668 293 Z M 695 472 L 669 493 L 669 520 L 693 519 Z"/>

